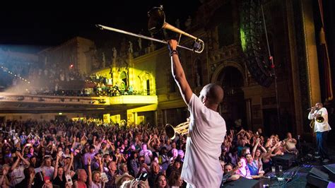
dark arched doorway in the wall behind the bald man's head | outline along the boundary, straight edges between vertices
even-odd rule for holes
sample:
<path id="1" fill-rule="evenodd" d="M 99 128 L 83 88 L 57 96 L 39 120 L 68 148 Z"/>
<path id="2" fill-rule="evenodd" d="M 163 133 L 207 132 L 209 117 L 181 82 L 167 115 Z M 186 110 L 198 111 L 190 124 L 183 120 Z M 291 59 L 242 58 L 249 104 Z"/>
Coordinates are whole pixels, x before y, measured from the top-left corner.
<path id="1" fill-rule="evenodd" d="M 237 119 L 241 119 L 242 127 L 247 128 L 245 94 L 242 90 L 244 78 L 240 70 L 235 66 L 225 66 L 218 74 L 216 82 L 221 84 L 225 92 L 220 111 L 227 128 L 234 127 Z"/>

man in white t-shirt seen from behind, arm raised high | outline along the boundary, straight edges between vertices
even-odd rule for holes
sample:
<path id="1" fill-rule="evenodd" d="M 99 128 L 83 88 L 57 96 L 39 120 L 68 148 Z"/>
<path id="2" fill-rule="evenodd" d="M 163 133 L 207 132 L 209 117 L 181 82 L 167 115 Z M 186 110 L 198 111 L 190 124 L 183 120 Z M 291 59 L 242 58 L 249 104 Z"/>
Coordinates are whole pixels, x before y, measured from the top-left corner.
<path id="1" fill-rule="evenodd" d="M 220 187 L 223 173 L 218 158 L 226 127 L 217 110 L 223 100 L 223 88 L 209 83 L 199 98 L 194 95 L 180 64 L 177 41 L 170 40 L 169 47 L 172 76 L 190 112 L 182 180 L 187 187 Z"/>

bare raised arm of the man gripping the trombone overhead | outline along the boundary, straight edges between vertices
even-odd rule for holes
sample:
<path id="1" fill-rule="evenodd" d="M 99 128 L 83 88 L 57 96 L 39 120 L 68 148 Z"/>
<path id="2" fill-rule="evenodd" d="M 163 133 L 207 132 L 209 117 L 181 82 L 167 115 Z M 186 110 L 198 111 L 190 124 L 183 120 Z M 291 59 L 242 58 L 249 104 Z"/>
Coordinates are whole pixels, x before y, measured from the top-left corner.
<path id="1" fill-rule="evenodd" d="M 173 78 L 175 78 L 175 82 L 180 89 L 180 93 L 182 94 L 184 102 L 186 102 L 186 104 L 189 104 L 189 100 L 191 100 L 193 92 L 189 87 L 189 83 L 187 82 L 184 69 L 182 69 L 182 64 L 180 63 L 180 59 L 176 50 L 177 45 L 177 40 L 169 41 L 172 76 Z"/>

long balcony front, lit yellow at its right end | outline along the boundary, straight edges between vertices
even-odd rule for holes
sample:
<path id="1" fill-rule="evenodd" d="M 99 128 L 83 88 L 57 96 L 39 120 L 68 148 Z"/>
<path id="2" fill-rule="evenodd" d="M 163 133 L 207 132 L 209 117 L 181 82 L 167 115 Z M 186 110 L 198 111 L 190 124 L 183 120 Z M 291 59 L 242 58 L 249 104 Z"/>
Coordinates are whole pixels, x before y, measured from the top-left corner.
<path id="1" fill-rule="evenodd" d="M 157 104 L 157 95 L 118 95 L 81 97 L 57 95 L 18 95 L 0 93 L 1 113 L 48 112 L 122 112 L 131 108 Z"/>

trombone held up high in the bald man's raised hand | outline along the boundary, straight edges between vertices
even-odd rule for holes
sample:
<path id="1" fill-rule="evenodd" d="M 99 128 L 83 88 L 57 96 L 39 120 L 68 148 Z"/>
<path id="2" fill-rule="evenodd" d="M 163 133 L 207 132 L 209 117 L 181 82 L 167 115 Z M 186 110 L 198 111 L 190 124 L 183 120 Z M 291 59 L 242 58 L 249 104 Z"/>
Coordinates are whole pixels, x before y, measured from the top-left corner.
<path id="1" fill-rule="evenodd" d="M 148 11 L 148 17 L 149 17 L 148 30 L 149 30 L 150 33 L 158 33 L 158 31 L 161 30 L 162 28 L 167 29 L 167 30 L 172 30 L 175 33 L 180 33 L 180 37 L 182 37 L 182 35 L 185 35 L 187 37 L 191 37 L 192 39 L 194 39 L 192 48 L 184 47 L 184 46 L 181 46 L 181 45 L 177 45 L 177 47 L 180 47 L 180 48 L 183 48 L 183 49 L 188 49 L 188 50 L 191 50 L 191 51 L 196 52 L 198 54 L 200 54 L 202 51 L 204 51 L 205 44 L 204 44 L 203 40 L 199 39 L 198 37 L 194 37 L 193 35 L 190 35 L 189 33 L 186 33 L 186 32 L 184 32 L 184 31 L 182 31 L 178 28 L 175 28 L 174 26 L 165 22 L 165 13 L 163 11 L 163 6 L 153 7 L 150 11 Z M 163 43 L 163 44 L 167 44 L 167 41 L 165 41 L 165 40 L 158 40 L 158 39 L 155 39 L 153 37 L 147 37 L 145 35 L 130 33 L 130 32 L 125 31 L 125 30 L 119 30 L 119 29 L 116 29 L 116 28 L 111 28 L 111 27 L 107 27 L 105 25 L 100 25 L 100 24 L 97 24 L 95 26 L 100 28 L 101 30 L 112 30 L 112 31 L 117 32 L 117 33 L 123 33 L 123 34 L 126 34 L 126 35 L 131 35 L 131 36 L 134 36 L 134 37 L 140 37 L 140 38 L 143 38 L 143 39 L 146 39 L 146 40 L 153 40 L 155 42 L 160 42 L 160 43 Z"/>

